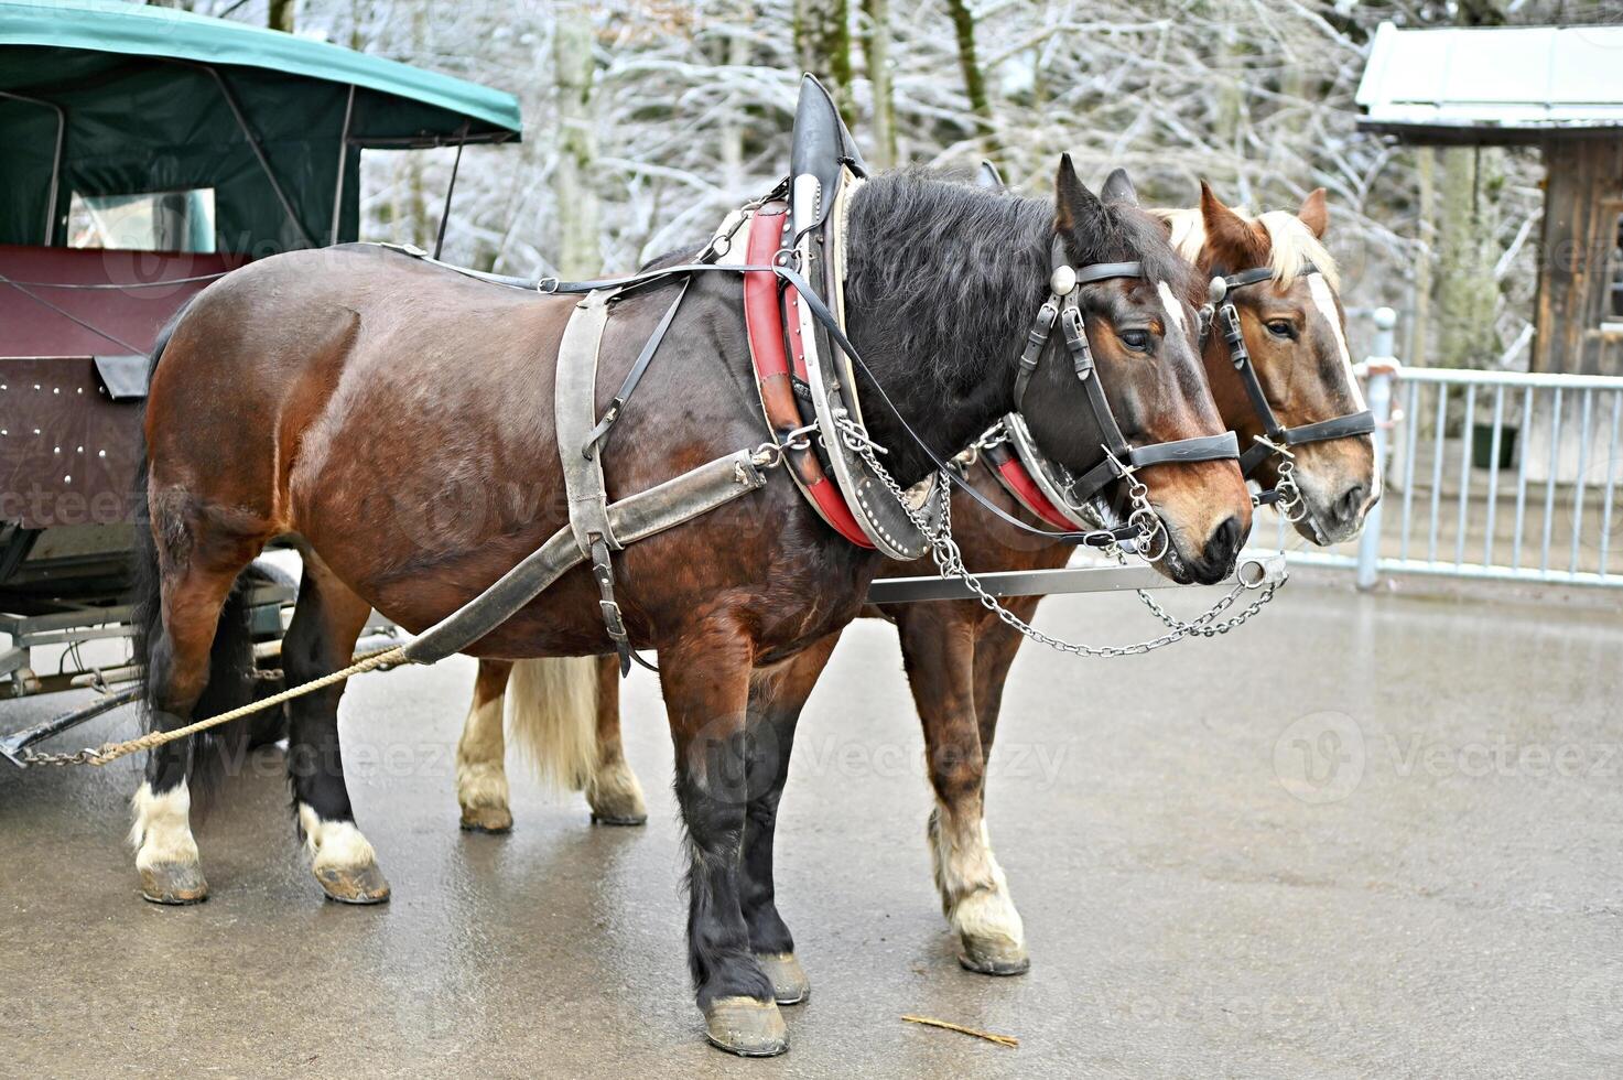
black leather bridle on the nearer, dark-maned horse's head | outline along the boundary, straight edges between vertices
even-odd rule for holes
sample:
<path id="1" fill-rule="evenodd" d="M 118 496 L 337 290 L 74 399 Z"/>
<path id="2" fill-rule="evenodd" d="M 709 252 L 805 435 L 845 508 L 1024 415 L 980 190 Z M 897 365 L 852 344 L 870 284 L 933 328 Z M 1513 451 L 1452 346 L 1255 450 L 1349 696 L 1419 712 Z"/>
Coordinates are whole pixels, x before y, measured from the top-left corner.
<path id="1" fill-rule="evenodd" d="M 1240 458 L 1240 443 L 1230 430 L 1220 435 L 1196 435 L 1193 438 L 1177 438 L 1157 442 L 1144 447 L 1133 447 L 1121 435 L 1105 396 L 1104 385 L 1094 372 L 1094 351 L 1087 343 L 1087 325 L 1078 294 L 1084 284 L 1109 281 L 1112 278 L 1144 278 L 1143 263 L 1094 263 L 1074 270 L 1065 257 L 1060 239 L 1055 237 L 1050 248 L 1048 299 L 1037 309 L 1037 315 L 1026 335 L 1026 348 L 1019 357 L 1019 374 L 1014 377 L 1014 413 L 1021 413 L 1026 388 L 1042 359 L 1042 352 L 1053 335 L 1055 323 L 1065 335 L 1065 349 L 1071 357 L 1071 370 L 1087 393 L 1087 408 L 1104 438 L 1100 448 L 1104 460 L 1076 477 L 1068 477 L 1065 495 L 1073 508 L 1081 508 L 1113 481 L 1126 479 L 1134 471 L 1151 464 L 1190 463 L 1190 461 L 1233 461 Z"/>

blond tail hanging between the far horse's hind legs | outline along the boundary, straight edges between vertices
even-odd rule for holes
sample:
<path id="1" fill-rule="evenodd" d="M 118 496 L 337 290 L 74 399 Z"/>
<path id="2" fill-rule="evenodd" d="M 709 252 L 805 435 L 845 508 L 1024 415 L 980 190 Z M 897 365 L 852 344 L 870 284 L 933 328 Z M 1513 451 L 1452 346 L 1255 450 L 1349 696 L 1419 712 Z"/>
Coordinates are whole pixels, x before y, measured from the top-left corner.
<path id="1" fill-rule="evenodd" d="M 513 664 L 508 734 L 558 791 L 579 791 L 597 771 L 597 658 L 557 656 Z"/>

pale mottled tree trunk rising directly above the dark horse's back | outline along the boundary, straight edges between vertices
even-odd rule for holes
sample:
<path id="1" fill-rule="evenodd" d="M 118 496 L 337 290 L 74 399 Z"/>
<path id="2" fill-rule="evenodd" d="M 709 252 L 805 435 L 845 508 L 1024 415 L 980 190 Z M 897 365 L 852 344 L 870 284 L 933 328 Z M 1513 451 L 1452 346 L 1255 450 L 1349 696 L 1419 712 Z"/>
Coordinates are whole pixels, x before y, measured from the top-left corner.
<path id="1" fill-rule="evenodd" d="M 558 83 L 558 166 L 552 174 L 553 205 L 558 208 L 558 273 L 589 278 L 602 268 L 597 245 L 597 192 L 592 167 L 597 140 L 592 117 L 591 16 L 583 8 L 558 13 L 552 62 Z"/>

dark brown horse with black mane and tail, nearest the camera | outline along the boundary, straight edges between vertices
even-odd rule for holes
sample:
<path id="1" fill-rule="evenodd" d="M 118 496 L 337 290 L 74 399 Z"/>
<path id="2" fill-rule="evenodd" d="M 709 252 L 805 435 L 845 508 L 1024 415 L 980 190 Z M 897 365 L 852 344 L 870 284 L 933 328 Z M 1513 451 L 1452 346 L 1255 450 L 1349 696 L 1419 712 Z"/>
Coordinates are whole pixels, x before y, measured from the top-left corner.
<path id="1" fill-rule="evenodd" d="M 1198 292 L 1154 219 L 1105 205 L 1061 159 L 1055 203 L 988 195 L 919 174 L 872 179 L 850 200 L 846 310 L 896 413 L 868 432 L 902 484 L 1013 408 L 1014 356 L 1048 291 L 1058 242 L 1076 266 L 1136 260 L 1144 278 L 1079 287 L 1097 372 L 1136 443 L 1220 434 L 1186 325 Z M 615 302 L 599 409 L 677 284 Z M 691 279 L 657 362 L 615 429 L 610 497 L 641 492 L 761 443 L 740 284 Z M 154 354 L 148 398 L 149 547 L 156 586 L 140 635 L 156 728 L 229 698 L 245 659 L 227 601 L 273 538 L 295 538 L 304 581 L 284 643 L 289 684 L 333 672 L 377 607 L 420 632 L 474 599 L 566 523 L 553 434 L 553 367 L 573 302 L 472 281 L 377 247 L 266 258 L 213 284 Z M 1100 464 L 1084 387 L 1050 348 L 1026 393 L 1045 453 Z M 909 440 L 923 432 L 928 448 Z M 928 451 L 927 451 L 928 450 Z M 1225 577 L 1251 505 L 1232 460 L 1139 474 L 1178 580 Z M 787 1046 L 774 971 L 794 942 L 773 900 L 773 823 L 794 723 L 834 635 L 863 604 L 881 557 L 823 525 L 787 476 L 626 547 L 617 594 L 633 643 L 659 651 L 690 848 L 688 961 L 709 1038 L 740 1054 Z M 586 568 L 560 578 L 471 650 L 480 658 L 609 651 Z M 289 775 L 299 828 L 328 896 L 388 895 L 355 827 L 338 744 L 342 685 L 297 698 Z M 208 695 L 208 697 L 204 697 Z M 136 867 L 149 900 L 206 895 L 188 825 L 185 742 L 153 752 L 135 797 Z M 782 963 L 779 963 L 782 961 Z"/>

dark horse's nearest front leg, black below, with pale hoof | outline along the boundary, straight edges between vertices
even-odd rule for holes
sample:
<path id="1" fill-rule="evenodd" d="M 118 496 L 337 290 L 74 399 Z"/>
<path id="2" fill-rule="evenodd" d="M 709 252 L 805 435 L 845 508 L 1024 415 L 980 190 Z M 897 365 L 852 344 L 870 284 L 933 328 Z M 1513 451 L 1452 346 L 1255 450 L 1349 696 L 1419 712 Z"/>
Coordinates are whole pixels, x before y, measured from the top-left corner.
<path id="1" fill-rule="evenodd" d="M 773 984 L 750 952 L 740 905 L 751 666 L 748 635 L 724 616 L 659 650 L 677 802 L 688 833 L 688 970 L 709 1041 L 764 1057 L 789 1049 L 789 1033 Z"/>

